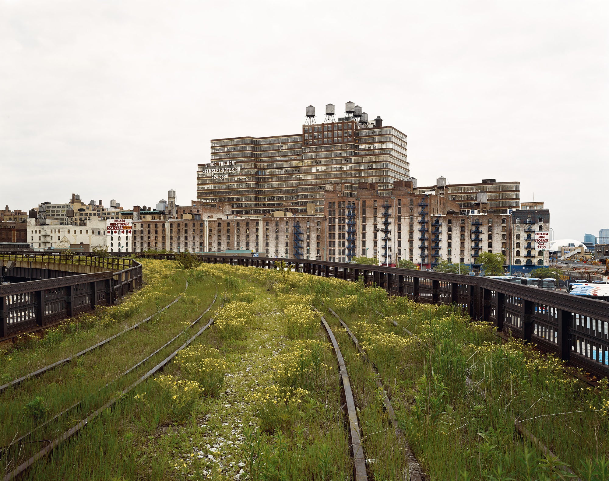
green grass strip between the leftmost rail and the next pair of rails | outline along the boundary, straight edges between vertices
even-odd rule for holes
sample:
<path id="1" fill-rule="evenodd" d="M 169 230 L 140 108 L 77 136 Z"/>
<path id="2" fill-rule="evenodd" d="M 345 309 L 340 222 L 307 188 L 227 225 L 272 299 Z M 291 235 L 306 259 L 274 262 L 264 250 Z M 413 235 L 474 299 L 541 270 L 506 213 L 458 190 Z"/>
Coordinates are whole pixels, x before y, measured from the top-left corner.
<path id="1" fill-rule="evenodd" d="M 3 391 L 0 395 L 0 415 L 4 420 L 3 423 L 0 423 L 0 444 L 9 445 L 29 430 L 51 420 L 58 413 L 82 401 L 79 406 L 66 415 L 41 427 L 27 441 L 54 439 L 69 427 L 77 424 L 88 413 L 104 404 L 112 393 L 125 388 L 142 372 L 146 372 L 155 360 L 158 362 L 158 359 L 162 359 L 163 354 L 170 353 L 171 346 L 163 349 L 143 367 L 122 376 L 118 381 L 104 388 L 105 384 L 113 381 L 139 359 L 148 356 L 185 329 L 198 313 L 211 303 L 217 284 L 213 278 L 199 276 L 199 280 L 191 278 L 189 284 L 188 295 L 149 323 L 77 360 Z M 184 337 L 181 342 L 185 339 Z M 176 341 L 176 343 L 178 342 L 180 340 Z M 44 349 L 46 348 L 34 345 L 22 349 L 19 354 L 36 356 L 39 351 Z M 0 464 L 5 470 L 14 468 L 16 464 L 23 462 L 27 455 L 31 455 L 37 449 L 40 449 L 38 443 L 15 445 L 0 454 Z"/>

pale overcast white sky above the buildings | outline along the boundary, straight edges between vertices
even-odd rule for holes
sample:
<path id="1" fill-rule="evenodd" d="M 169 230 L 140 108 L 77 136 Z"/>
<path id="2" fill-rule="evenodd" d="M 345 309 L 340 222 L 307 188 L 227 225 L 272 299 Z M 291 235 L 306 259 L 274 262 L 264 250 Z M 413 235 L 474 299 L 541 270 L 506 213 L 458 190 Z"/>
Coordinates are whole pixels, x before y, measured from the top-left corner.
<path id="1" fill-rule="evenodd" d="M 209 139 L 353 100 L 419 185 L 520 181 L 609 228 L 609 2 L 0 0 L 0 204 L 196 198 Z"/>

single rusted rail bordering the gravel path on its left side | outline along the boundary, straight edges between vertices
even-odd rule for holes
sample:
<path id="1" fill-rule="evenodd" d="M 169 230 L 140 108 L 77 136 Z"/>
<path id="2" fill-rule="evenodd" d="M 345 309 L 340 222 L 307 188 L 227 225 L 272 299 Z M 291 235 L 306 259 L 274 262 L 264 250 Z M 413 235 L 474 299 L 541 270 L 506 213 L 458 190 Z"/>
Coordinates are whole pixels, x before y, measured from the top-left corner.
<path id="1" fill-rule="evenodd" d="M 15 469 L 13 469 L 13 471 L 10 471 L 8 474 L 6 474 L 4 476 L 4 478 L 2 478 L 3 481 L 10 481 L 12 479 L 15 479 L 15 477 L 19 476 L 20 474 L 25 472 L 27 469 L 29 469 L 30 466 L 32 466 L 33 463 L 37 462 L 41 457 L 44 457 L 45 455 L 49 454 L 49 452 L 51 452 L 53 449 L 57 448 L 57 446 L 59 446 L 61 443 L 63 443 L 63 441 L 68 440 L 74 434 L 79 432 L 80 429 L 85 427 L 88 423 L 90 423 L 90 421 L 93 421 L 95 418 L 97 418 L 97 416 L 99 416 L 106 409 L 109 409 L 110 407 L 114 406 L 114 404 L 116 404 L 116 402 L 121 401 L 121 399 L 123 398 L 124 395 L 126 395 L 127 393 L 132 391 L 135 387 L 137 387 L 142 382 L 146 381 L 146 379 L 148 379 L 150 376 L 152 376 L 152 374 L 155 374 L 158 371 L 160 371 L 169 361 L 174 359 L 176 354 L 179 351 L 181 351 L 181 349 L 188 347 L 192 343 L 192 341 L 197 339 L 197 337 L 199 337 L 199 335 L 201 335 L 203 333 L 203 331 L 205 331 L 205 329 L 207 329 L 209 326 L 213 325 L 213 323 L 214 323 L 214 319 L 211 318 L 208 321 L 208 323 L 206 323 L 205 326 L 203 326 L 201 329 L 199 329 L 199 331 L 195 335 L 193 335 L 190 339 L 188 339 L 185 343 L 183 343 L 183 345 L 181 345 L 179 348 L 177 348 L 173 353 L 169 354 L 169 356 L 167 356 L 165 359 L 163 359 L 160 363 L 158 363 L 155 367 L 153 367 L 151 370 L 149 370 L 146 374 L 139 377 L 139 379 L 137 381 L 133 382 L 133 384 L 129 385 L 127 388 L 122 390 L 118 396 L 110 399 L 110 401 L 106 402 L 104 404 L 104 406 L 100 407 L 95 412 L 93 412 L 92 414 L 87 416 L 85 419 L 80 421 L 80 423 L 76 424 L 76 426 L 74 426 L 71 429 L 64 432 L 60 437 L 55 438 L 55 440 L 53 440 L 50 444 L 48 444 L 48 446 L 45 446 L 43 449 L 38 451 L 32 457 L 30 457 L 26 462 L 21 463 L 21 465 L 17 466 Z"/>

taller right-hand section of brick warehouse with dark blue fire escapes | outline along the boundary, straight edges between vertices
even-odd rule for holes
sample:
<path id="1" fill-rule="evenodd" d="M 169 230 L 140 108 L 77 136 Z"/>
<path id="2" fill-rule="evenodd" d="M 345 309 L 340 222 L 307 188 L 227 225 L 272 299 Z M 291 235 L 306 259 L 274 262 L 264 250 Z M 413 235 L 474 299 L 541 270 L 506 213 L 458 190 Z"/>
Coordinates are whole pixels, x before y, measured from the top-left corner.
<path id="1" fill-rule="evenodd" d="M 498 213 L 485 195 L 477 201 L 463 209 L 442 195 L 417 193 L 413 181 L 396 181 L 390 195 L 374 183 L 359 184 L 355 196 L 339 184 L 327 186 L 322 249 L 330 261 L 409 259 L 428 269 L 442 260 L 474 266 L 482 252 L 501 253 L 513 266 L 547 265 L 547 250 L 535 251 L 532 232 L 533 223 L 538 232 L 549 230 L 547 209 Z"/>

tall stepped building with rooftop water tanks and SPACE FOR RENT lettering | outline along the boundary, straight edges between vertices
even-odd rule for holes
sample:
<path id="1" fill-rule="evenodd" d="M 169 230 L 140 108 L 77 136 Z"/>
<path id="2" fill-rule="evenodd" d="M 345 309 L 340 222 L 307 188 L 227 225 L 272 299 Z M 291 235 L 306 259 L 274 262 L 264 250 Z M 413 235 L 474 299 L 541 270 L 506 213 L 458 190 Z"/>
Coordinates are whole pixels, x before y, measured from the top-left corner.
<path id="1" fill-rule="evenodd" d="M 335 118 L 326 105 L 322 123 L 315 108 L 307 108 L 301 131 L 290 135 L 213 139 L 211 160 L 197 168 L 197 200 L 208 205 L 228 203 L 241 216 L 267 215 L 275 209 L 294 214 L 323 214 L 328 183 L 354 192 L 361 182 L 375 182 L 381 192 L 410 175 L 407 136 L 382 119 L 368 115 L 353 102 Z"/>

